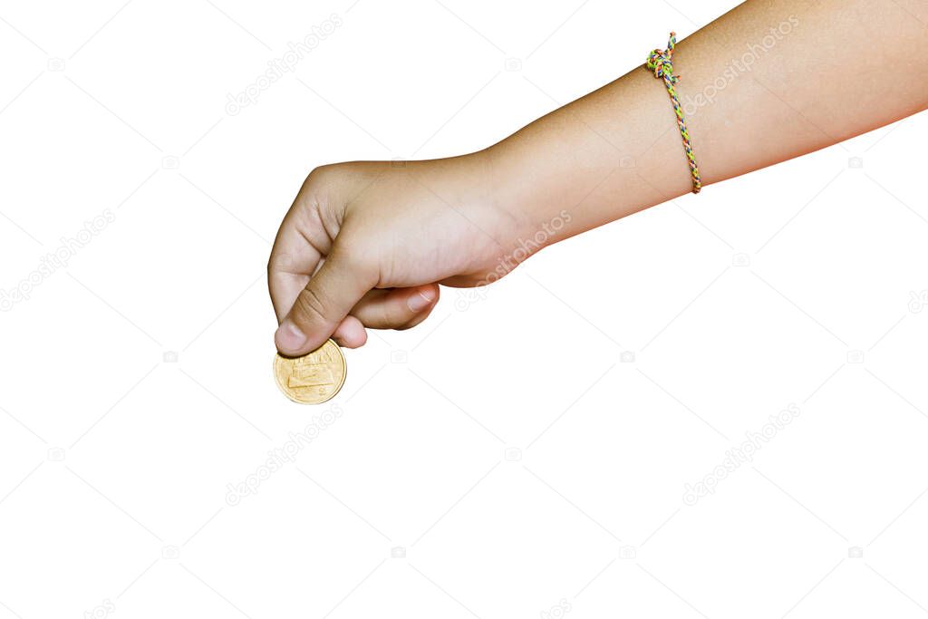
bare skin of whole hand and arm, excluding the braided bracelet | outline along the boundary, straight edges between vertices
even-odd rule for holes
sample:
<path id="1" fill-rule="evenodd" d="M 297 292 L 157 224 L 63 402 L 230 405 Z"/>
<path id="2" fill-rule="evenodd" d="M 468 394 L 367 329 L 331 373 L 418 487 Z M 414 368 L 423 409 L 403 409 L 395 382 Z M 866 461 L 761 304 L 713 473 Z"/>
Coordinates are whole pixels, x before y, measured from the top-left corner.
<path id="1" fill-rule="evenodd" d="M 928 0 L 749 0 L 673 59 L 705 187 L 928 108 Z M 317 168 L 268 264 L 277 350 L 414 327 L 439 285 L 491 283 L 690 189 L 664 83 L 643 66 L 479 152 Z"/>

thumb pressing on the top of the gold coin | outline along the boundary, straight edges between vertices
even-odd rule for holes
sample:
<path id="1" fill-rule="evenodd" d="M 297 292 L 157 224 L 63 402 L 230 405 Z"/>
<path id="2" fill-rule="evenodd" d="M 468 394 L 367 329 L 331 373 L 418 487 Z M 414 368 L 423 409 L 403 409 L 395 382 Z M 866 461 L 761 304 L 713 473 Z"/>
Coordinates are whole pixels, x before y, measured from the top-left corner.
<path id="1" fill-rule="evenodd" d="M 290 356 L 316 350 L 376 283 L 376 269 L 358 264 L 333 248 L 277 328 L 277 350 Z"/>

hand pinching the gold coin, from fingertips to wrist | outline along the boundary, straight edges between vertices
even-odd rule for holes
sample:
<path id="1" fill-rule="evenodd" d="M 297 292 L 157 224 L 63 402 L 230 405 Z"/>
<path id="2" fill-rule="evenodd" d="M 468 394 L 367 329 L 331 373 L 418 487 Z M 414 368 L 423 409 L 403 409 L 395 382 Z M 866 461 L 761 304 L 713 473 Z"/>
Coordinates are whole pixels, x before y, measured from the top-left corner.
<path id="1" fill-rule="evenodd" d="M 439 283 L 487 283 L 521 224 L 495 203 L 486 159 L 476 153 L 313 171 L 268 264 L 281 322 L 277 349 L 303 355 L 330 336 L 361 346 L 365 327 L 418 325 L 438 301 Z"/>

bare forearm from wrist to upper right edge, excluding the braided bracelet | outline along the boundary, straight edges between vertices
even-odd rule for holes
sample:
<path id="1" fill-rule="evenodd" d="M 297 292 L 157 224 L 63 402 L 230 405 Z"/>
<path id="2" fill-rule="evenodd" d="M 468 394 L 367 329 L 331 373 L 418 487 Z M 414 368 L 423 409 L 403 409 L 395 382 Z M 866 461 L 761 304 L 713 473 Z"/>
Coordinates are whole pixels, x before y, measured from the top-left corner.
<path id="1" fill-rule="evenodd" d="M 677 94 L 703 185 L 924 110 L 925 23 L 923 0 L 749 0 L 680 42 Z M 566 236 L 691 189 L 664 83 L 644 67 L 486 156 L 515 179 L 497 181 L 496 200 L 530 227 L 571 213 Z"/>

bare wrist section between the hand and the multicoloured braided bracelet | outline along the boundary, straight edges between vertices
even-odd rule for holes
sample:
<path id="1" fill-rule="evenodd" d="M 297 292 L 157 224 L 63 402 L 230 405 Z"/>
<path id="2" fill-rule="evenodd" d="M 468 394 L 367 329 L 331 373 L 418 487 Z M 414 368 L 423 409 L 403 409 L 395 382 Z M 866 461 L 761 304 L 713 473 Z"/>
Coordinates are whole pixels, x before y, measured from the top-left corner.
<path id="1" fill-rule="evenodd" d="M 549 245 L 690 191 L 673 109 L 654 82 L 632 71 L 487 149 L 496 200 L 523 235 Z"/>

